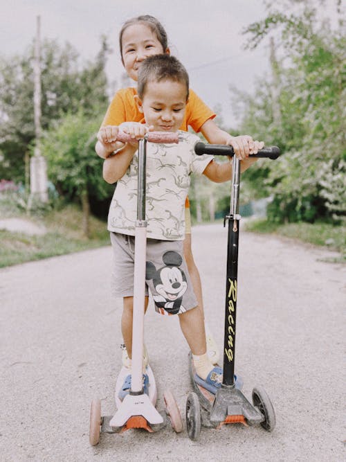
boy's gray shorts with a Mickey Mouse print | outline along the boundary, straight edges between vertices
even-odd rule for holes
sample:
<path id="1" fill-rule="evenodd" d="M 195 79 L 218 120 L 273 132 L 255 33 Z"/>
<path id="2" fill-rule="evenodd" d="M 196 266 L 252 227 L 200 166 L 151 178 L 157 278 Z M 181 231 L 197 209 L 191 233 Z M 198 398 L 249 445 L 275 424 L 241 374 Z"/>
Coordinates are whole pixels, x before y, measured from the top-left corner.
<path id="1" fill-rule="evenodd" d="M 110 234 L 113 295 L 133 296 L 134 236 Z M 145 294 L 149 287 L 156 312 L 160 314 L 181 314 L 197 306 L 181 240 L 147 239 L 145 283 Z"/>

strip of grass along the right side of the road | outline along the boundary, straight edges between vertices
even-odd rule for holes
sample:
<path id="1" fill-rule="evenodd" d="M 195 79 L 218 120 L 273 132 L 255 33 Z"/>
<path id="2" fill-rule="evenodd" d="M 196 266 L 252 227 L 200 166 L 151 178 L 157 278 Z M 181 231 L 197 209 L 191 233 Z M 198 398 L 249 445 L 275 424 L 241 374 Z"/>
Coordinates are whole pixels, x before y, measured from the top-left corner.
<path id="1" fill-rule="evenodd" d="M 332 263 L 346 263 L 346 227 L 328 223 L 276 224 L 266 220 L 248 220 L 246 231 L 275 234 L 312 245 L 340 252 L 340 257 L 330 258 Z"/>

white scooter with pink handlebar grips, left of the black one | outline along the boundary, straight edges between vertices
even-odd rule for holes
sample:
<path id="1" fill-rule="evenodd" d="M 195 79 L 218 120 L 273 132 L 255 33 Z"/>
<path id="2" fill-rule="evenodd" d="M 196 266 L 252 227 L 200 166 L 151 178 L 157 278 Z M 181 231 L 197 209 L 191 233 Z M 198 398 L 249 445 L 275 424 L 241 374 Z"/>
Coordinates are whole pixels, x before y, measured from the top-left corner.
<path id="1" fill-rule="evenodd" d="M 128 134 L 119 133 L 118 141 L 126 143 L 133 141 Z M 101 416 L 100 399 L 91 402 L 89 441 L 97 445 L 100 433 L 119 433 L 131 428 L 142 428 L 148 432 L 156 432 L 167 425 L 167 416 L 170 417 L 172 427 L 176 433 L 183 429 L 181 413 L 172 392 L 165 390 L 165 411 L 159 412 L 156 405 L 156 382 L 154 373 L 149 364 L 146 373 L 149 377 L 148 394 L 143 389 L 143 337 L 145 315 L 145 262 L 147 249 L 147 222 L 145 220 L 145 189 L 146 189 L 146 148 L 150 143 L 178 143 L 176 133 L 149 132 L 138 146 L 138 195 L 137 220 L 135 230 L 134 254 L 134 314 L 132 326 L 132 361 L 131 361 L 131 389 L 121 401 L 118 393 L 122 387 L 129 369 L 122 366 L 116 382 L 116 407 L 113 416 Z"/>

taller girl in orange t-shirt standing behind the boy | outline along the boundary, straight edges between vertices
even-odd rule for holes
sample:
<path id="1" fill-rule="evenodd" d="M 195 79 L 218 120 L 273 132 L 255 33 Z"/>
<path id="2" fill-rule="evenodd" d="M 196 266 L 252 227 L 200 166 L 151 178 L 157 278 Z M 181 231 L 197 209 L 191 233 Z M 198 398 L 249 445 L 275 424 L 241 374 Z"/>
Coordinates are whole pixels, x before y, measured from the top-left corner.
<path id="1" fill-rule="evenodd" d="M 138 68 L 140 63 L 147 57 L 167 53 L 170 48 L 167 46 L 167 34 L 161 23 L 149 15 L 138 16 L 129 19 L 122 26 L 119 34 L 119 46 L 122 64 L 127 75 L 134 80 L 138 80 Z M 135 98 L 137 91 L 133 87 L 120 89 L 113 97 L 107 113 L 104 116 L 102 126 L 98 132 L 98 142 L 95 145 L 97 154 L 106 159 L 116 150 L 116 131 L 117 126 L 126 123 L 127 132 L 133 134 L 131 122 L 145 123 L 143 114 L 139 112 Z M 263 147 L 263 143 L 253 141 L 251 136 L 230 136 L 221 130 L 213 119 L 216 114 L 190 89 L 188 103 L 186 105 L 185 116 L 181 123 L 181 130 L 188 131 L 188 126 L 194 132 L 201 132 L 209 143 L 232 145 L 235 154 L 239 159 L 246 159 L 249 154 L 255 154 L 258 149 Z M 191 249 L 191 225 L 190 225 L 190 206 L 188 199 L 185 204 L 185 240 L 184 256 L 191 276 L 194 293 L 197 296 L 198 306 L 203 314 L 203 299 L 201 289 L 201 279 Z M 219 352 L 215 340 L 208 329 L 206 329 L 206 341 L 208 356 L 212 364 L 216 364 L 219 359 Z M 129 361 L 123 355 L 125 365 Z"/>

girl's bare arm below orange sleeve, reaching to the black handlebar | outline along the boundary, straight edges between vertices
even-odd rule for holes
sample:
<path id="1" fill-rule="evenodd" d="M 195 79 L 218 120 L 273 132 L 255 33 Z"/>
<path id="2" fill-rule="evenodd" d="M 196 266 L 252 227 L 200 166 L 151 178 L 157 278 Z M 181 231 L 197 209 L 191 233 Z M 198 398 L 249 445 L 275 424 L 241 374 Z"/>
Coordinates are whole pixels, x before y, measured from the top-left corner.
<path id="1" fill-rule="evenodd" d="M 240 159 L 246 159 L 249 154 L 257 154 L 259 149 L 262 149 L 264 143 L 261 141 L 253 141 L 251 136 L 231 136 L 229 133 L 221 130 L 212 119 L 208 119 L 201 126 L 203 136 L 212 144 L 228 144 L 235 150 L 235 155 Z M 255 159 L 253 159 L 253 162 Z M 253 163 L 252 162 L 252 163 Z"/>

